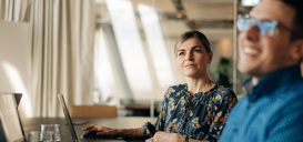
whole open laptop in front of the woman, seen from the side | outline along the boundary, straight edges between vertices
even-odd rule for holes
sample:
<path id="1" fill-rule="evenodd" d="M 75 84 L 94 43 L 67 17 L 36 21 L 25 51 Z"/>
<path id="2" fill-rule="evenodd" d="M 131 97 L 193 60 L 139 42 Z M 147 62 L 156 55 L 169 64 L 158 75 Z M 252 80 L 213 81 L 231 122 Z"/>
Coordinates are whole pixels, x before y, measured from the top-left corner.
<path id="1" fill-rule="evenodd" d="M 67 120 L 67 123 L 69 125 L 69 129 L 70 129 L 70 133 L 71 133 L 71 136 L 72 136 L 72 142 L 125 142 L 123 140 L 113 140 L 113 139 L 83 139 L 83 138 L 80 138 L 78 139 L 77 134 L 75 134 L 75 131 L 74 131 L 74 128 L 73 128 L 73 124 L 72 124 L 72 121 L 71 121 L 71 118 L 70 118 L 70 113 L 69 113 L 69 110 L 67 108 L 67 104 L 65 104 L 65 101 L 64 101 L 64 97 L 63 94 L 58 94 L 58 98 L 59 98 L 59 102 L 62 106 L 62 110 L 63 110 L 63 113 L 65 115 L 65 120 Z"/>

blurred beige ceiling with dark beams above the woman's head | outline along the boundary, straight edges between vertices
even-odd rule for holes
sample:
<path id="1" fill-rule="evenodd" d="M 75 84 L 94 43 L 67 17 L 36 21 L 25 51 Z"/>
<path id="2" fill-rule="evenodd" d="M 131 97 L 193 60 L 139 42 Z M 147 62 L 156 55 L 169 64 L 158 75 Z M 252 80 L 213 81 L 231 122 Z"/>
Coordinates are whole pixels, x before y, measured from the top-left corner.
<path id="1" fill-rule="evenodd" d="M 234 0 L 130 0 L 158 11 L 163 37 L 176 39 L 182 32 L 200 30 L 211 41 L 233 39 Z M 105 0 L 95 0 L 97 22 L 109 22 Z M 176 18 L 182 13 L 182 18 Z M 135 14 L 139 17 L 139 14 Z M 141 27 L 139 27 L 142 30 Z"/>

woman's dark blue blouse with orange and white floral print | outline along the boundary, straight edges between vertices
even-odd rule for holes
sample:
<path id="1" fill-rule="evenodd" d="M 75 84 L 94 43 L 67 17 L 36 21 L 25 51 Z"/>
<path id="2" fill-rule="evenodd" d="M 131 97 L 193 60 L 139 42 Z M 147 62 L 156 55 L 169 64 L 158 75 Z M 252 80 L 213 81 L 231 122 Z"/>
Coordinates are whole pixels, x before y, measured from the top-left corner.
<path id="1" fill-rule="evenodd" d="M 156 122 L 143 125 L 143 136 L 152 138 L 156 131 L 164 131 L 196 140 L 216 141 L 236 102 L 234 92 L 219 84 L 208 92 L 195 93 L 193 99 L 186 83 L 170 87 Z"/>

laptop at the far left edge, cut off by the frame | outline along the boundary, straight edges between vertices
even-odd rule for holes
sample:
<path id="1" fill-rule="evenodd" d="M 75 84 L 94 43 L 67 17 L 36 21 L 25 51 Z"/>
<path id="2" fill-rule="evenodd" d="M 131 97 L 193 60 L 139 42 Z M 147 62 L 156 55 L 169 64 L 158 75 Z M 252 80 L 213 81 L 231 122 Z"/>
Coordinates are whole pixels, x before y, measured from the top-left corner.
<path id="1" fill-rule="evenodd" d="M 21 93 L 0 94 L 0 141 L 23 142 L 26 141 L 20 115 L 18 112 Z"/>

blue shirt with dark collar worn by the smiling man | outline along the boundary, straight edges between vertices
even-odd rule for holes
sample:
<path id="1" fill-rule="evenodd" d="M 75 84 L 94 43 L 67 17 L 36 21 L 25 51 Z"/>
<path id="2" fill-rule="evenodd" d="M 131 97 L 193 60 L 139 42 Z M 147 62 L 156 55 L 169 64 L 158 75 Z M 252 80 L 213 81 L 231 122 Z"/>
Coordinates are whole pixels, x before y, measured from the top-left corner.
<path id="1" fill-rule="evenodd" d="M 231 111 L 220 142 L 303 141 L 303 79 L 299 64 L 264 77 L 248 92 L 251 94 Z"/>

